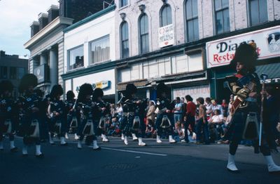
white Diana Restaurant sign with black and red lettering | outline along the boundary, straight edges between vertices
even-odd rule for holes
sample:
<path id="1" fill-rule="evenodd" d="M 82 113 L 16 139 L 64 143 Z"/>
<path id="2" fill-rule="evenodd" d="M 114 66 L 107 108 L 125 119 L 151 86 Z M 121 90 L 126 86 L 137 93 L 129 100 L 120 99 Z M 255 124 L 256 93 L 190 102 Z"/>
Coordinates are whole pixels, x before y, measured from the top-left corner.
<path id="1" fill-rule="evenodd" d="M 230 61 L 235 56 L 235 49 L 239 44 L 252 40 L 257 44 L 258 58 L 260 60 L 280 56 L 280 26 L 269 27 L 255 32 L 207 42 L 207 67 L 219 67 L 230 64 Z"/>

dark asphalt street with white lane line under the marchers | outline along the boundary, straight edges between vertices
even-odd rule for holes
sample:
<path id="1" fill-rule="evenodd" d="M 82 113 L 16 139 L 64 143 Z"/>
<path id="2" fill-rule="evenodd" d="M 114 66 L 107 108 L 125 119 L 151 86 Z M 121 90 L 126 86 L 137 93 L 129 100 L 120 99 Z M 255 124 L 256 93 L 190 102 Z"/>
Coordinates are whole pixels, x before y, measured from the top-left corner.
<path id="1" fill-rule="evenodd" d="M 146 147 L 129 140 L 123 145 L 120 138 L 99 143 L 101 151 L 76 142 L 68 146 L 42 144 L 45 157 L 22 157 L 21 150 L 10 154 L 0 152 L 0 183 L 279 183 L 280 176 L 269 174 L 261 154 L 252 147 L 240 145 L 237 166 L 241 173 L 226 169 L 228 145 L 195 145 L 193 143 L 162 144 L 145 139 Z M 20 138 L 16 139 L 22 147 Z M 8 145 L 5 145 L 7 147 Z M 280 155 L 272 155 L 277 164 Z"/>

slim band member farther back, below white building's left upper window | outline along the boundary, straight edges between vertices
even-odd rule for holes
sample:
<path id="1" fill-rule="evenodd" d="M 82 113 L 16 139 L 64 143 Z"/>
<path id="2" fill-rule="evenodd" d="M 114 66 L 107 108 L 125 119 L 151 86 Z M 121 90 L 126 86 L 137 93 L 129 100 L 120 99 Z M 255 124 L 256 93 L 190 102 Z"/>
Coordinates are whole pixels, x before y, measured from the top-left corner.
<path id="1" fill-rule="evenodd" d="M 67 91 L 66 93 L 66 110 L 67 110 L 67 129 L 65 138 L 68 138 L 68 133 L 75 133 L 75 139 L 78 140 L 76 129 L 78 128 L 78 117 L 75 109 L 75 94 L 73 91 Z"/>

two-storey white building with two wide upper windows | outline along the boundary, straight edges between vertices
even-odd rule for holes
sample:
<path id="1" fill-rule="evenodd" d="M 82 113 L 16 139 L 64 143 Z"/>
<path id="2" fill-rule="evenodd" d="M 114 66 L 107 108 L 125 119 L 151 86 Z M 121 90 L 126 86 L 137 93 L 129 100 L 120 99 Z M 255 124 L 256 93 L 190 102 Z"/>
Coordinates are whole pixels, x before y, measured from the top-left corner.
<path id="1" fill-rule="evenodd" d="M 76 93 L 84 83 L 103 88 L 104 98 L 115 101 L 115 10 L 109 6 L 64 29 L 65 92 Z"/>

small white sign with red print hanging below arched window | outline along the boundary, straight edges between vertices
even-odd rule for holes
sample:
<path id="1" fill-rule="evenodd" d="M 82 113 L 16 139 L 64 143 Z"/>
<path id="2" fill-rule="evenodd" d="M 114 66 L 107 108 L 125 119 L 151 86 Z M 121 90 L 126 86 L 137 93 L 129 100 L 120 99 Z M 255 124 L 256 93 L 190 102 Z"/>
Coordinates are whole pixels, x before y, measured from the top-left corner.
<path id="1" fill-rule="evenodd" d="M 158 45 L 160 48 L 174 44 L 174 26 L 166 25 L 158 28 Z"/>

